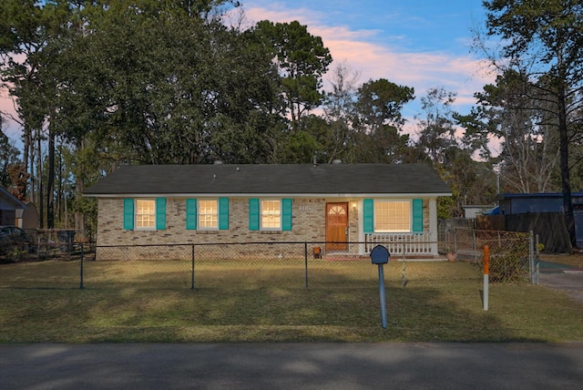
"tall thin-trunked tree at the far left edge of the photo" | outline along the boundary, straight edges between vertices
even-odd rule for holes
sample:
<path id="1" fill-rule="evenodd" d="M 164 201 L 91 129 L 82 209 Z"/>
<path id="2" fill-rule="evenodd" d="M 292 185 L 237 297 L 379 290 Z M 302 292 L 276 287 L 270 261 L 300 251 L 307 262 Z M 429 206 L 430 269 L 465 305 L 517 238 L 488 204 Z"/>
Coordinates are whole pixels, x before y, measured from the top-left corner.
<path id="1" fill-rule="evenodd" d="M 25 169 L 31 175 L 32 200 L 39 206 L 40 224 L 53 227 L 53 184 L 55 134 L 48 128 L 46 118 L 51 114 L 51 97 L 47 94 L 45 48 L 51 36 L 59 34 L 68 12 L 64 0 L 31 1 L 6 0 L 0 5 L 0 67 L 2 79 L 15 98 L 18 118 L 24 130 Z M 48 169 L 44 172 L 42 142 L 48 139 Z M 36 179 L 36 180 L 35 180 Z M 44 180 L 46 179 L 46 180 Z M 46 199 L 44 197 L 46 194 Z M 44 206 L 47 206 L 46 213 Z"/>

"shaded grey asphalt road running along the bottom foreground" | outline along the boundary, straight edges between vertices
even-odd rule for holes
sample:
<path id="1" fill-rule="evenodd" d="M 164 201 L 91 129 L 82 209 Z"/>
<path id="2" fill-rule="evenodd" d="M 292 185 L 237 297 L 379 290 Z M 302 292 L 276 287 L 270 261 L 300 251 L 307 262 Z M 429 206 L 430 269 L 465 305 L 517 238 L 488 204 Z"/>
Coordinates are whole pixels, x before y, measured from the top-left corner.
<path id="1" fill-rule="evenodd" d="M 3 389 L 580 389 L 583 343 L 0 345 Z"/>

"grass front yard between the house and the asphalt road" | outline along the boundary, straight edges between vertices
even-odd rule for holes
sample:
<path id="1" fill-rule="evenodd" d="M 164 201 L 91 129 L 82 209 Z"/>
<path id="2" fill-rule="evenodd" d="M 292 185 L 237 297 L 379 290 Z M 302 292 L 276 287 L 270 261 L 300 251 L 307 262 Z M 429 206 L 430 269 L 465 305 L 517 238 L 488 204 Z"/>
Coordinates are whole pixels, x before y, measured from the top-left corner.
<path id="1" fill-rule="evenodd" d="M 583 305 L 476 265 L 368 262 L 79 262 L 0 265 L 0 343 L 583 341 Z"/>

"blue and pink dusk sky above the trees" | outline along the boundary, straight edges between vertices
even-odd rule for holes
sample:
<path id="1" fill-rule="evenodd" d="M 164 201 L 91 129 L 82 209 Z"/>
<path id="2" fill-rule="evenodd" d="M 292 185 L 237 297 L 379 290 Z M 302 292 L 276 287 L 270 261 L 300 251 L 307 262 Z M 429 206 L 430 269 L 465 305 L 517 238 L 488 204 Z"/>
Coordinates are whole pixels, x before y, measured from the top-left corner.
<path id="1" fill-rule="evenodd" d="M 428 88 L 444 87 L 457 94 L 454 109 L 468 113 L 473 95 L 494 75 L 471 51 L 472 29 L 484 28 L 482 0 L 240 0 L 248 26 L 299 21 L 313 36 L 321 36 L 333 62 L 358 72 L 358 84 L 386 78 L 414 87 L 415 100 L 404 108 L 408 127 L 420 113 L 420 97 Z M 235 18 L 235 16 L 233 16 Z M 324 87 L 327 77 L 324 77 Z M 0 107 L 12 102 L 0 94 Z M 14 123 L 4 125 L 19 138 Z M 7 131 L 6 131 L 7 130 Z"/>

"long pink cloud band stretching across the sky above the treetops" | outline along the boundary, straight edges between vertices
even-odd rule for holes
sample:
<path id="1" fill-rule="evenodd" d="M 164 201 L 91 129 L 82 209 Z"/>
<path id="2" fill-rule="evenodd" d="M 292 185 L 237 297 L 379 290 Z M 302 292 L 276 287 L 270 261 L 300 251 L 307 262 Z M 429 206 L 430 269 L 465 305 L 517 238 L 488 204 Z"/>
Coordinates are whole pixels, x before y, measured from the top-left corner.
<path id="1" fill-rule="evenodd" d="M 312 35 L 322 37 L 335 62 L 344 62 L 359 72 L 362 75 L 360 82 L 384 77 L 394 83 L 414 87 L 417 97 L 424 96 L 428 88 L 445 87 L 457 93 L 455 106 L 458 108 L 475 104 L 474 93 L 494 81 L 494 76 L 488 74 L 484 64 L 471 56 L 397 50 L 388 44 L 375 43 L 375 37 L 379 34 L 377 30 L 326 26 L 321 22 L 323 15 L 306 8 L 291 9 L 274 3 L 269 9 L 245 9 L 245 15 L 251 23 L 263 19 L 281 23 L 298 20 L 308 26 Z M 402 36 L 394 36 L 390 42 L 401 40 Z"/>

